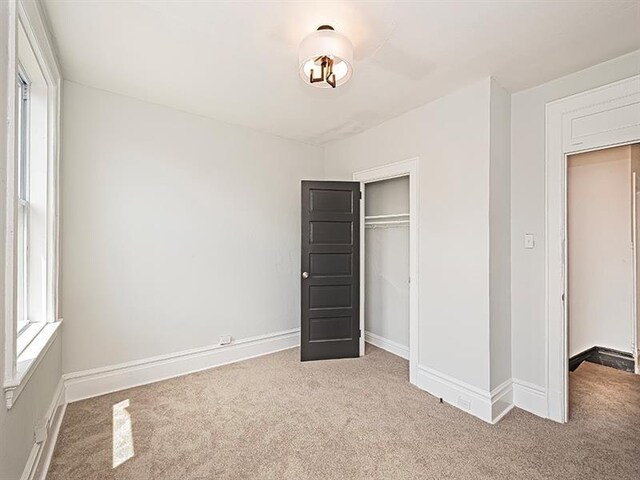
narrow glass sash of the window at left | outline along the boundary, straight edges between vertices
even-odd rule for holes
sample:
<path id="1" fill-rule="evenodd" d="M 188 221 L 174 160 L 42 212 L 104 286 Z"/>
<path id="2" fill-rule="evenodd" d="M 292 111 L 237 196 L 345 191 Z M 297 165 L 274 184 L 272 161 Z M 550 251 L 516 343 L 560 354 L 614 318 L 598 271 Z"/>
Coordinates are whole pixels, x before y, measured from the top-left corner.
<path id="1" fill-rule="evenodd" d="M 29 326 L 29 80 L 18 68 L 18 225 L 16 229 L 17 329 L 18 336 Z M 19 354 L 20 352 L 18 352 Z"/>

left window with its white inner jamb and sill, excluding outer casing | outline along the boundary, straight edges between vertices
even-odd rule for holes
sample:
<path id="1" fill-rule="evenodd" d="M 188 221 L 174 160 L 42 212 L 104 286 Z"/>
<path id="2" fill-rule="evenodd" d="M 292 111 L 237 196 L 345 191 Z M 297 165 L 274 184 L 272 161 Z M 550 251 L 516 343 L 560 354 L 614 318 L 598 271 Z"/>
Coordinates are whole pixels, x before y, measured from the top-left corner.
<path id="1" fill-rule="evenodd" d="M 26 30 L 18 30 L 15 144 L 15 298 L 18 357 L 51 321 L 47 260 L 49 208 L 49 89 Z"/>

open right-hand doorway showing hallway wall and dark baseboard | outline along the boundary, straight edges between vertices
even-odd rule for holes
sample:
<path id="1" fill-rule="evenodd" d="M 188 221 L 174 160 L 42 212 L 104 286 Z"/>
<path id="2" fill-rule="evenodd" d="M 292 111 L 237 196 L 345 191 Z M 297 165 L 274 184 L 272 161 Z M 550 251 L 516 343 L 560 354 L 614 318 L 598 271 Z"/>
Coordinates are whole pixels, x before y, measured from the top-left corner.
<path id="1" fill-rule="evenodd" d="M 640 144 L 567 157 L 570 412 L 639 372 L 638 176 Z"/>

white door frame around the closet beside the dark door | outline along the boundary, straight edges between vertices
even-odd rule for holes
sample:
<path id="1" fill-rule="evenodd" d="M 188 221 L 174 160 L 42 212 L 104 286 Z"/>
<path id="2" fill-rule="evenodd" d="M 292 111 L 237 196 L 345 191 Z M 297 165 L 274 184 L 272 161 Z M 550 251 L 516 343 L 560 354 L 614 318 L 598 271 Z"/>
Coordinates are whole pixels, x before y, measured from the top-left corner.
<path id="1" fill-rule="evenodd" d="M 418 367 L 419 338 L 419 276 L 418 276 L 418 232 L 419 232 L 419 195 L 418 164 L 419 158 L 391 163 L 382 167 L 370 168 L 353 174 L 353 180 L 360 182 L 360 355 L 364 355 L 365 333 L 365 245 L 364 245 L 364 186 L 367 183 L 389 180 L 397 177 L 409 177 L 409 381 L 416 383 Z"/>

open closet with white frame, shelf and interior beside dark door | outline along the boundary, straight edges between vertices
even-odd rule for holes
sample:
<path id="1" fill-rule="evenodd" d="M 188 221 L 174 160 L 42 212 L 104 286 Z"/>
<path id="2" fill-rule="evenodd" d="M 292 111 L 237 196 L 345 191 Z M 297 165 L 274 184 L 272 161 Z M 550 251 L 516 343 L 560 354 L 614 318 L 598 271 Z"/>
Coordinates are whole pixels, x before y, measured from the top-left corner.
<path id="1" fill-rule="evenodd" d="M 360 182 L 360 355 L 365 342 L 418 364 L 418 159 L 353 175 Z"/>

